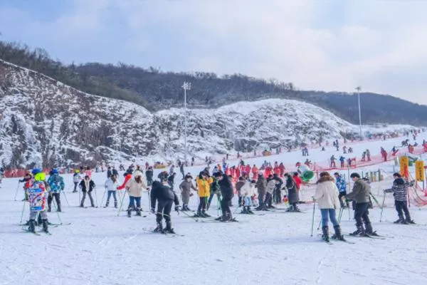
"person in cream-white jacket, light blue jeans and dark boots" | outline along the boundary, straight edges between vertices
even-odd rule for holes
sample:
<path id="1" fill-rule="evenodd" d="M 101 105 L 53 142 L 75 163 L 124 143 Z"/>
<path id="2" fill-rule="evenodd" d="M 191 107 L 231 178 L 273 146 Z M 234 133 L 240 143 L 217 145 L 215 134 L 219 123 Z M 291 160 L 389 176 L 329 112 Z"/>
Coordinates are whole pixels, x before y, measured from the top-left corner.
<path id="1" fill-rule="evenodd" d="M 335 234 L 332 239 L 344 239 L 341 234 L 341 228 L 337 222 L 336 210 L 339 209 L 338 199 L 339 191 L 334 183 L 334 178 L 328 172 L 320 173 L 320 179 L 316 183 L 316 192 L 313 200 L 317 202 L 322 214 L 322 238 L 329 242 L 328 217 L 334 225 Z"/>

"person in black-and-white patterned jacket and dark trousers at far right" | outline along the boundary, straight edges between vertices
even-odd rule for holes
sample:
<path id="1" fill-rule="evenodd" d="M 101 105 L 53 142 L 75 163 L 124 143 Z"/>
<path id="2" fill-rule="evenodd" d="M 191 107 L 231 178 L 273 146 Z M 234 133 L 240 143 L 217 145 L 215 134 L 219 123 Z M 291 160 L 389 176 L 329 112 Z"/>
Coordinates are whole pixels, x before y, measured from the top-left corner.
<path id="1" fill-rule="evenodd" d="M 393 175 L 394 182 L 391 189 L 384 190 L 384 193 L 393 192 L 394 196 L 394 205 L 396 207 L 396 212 L 399 217 L 394 223 L 395 224 L 415 224 L 411 219 L 411 215 L 408 210 L 408 187 L 413 185 L 404 180 L 400 173 L 394 173 Z"/>

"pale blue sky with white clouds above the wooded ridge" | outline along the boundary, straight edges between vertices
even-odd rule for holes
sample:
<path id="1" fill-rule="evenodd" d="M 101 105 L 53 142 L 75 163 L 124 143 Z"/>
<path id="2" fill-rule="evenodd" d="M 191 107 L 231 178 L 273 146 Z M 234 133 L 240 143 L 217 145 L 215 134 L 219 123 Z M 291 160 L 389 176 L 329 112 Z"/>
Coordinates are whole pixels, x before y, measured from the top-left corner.
<path id="1" fill-rule="evenodd" d="M 0 0 L 0 39 L 65 63 L 243 73 L 426 104 L 427 1 Z"/>

